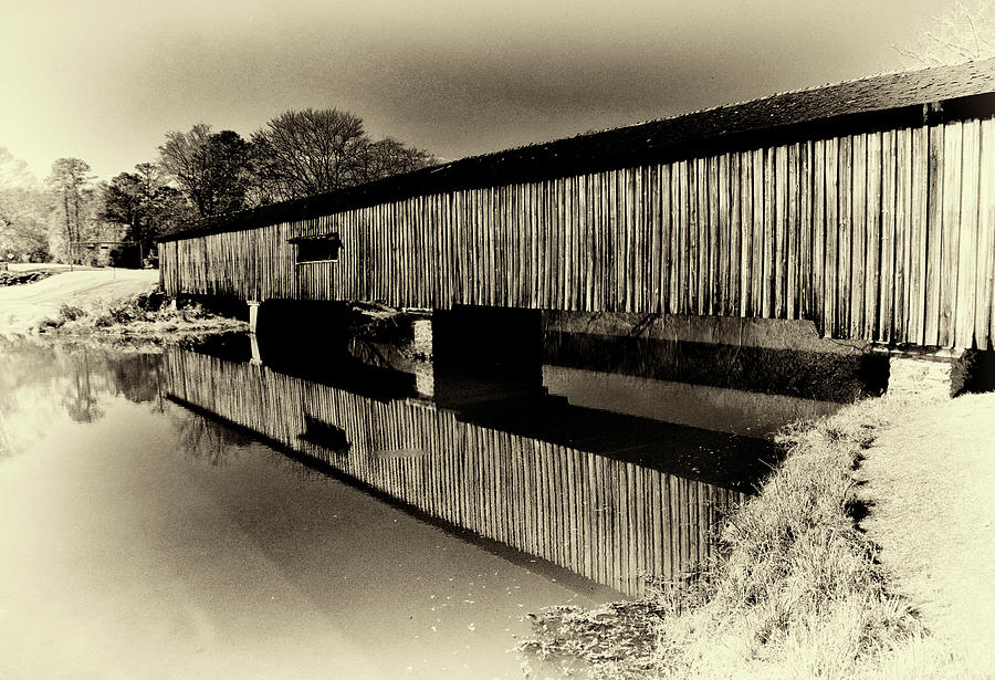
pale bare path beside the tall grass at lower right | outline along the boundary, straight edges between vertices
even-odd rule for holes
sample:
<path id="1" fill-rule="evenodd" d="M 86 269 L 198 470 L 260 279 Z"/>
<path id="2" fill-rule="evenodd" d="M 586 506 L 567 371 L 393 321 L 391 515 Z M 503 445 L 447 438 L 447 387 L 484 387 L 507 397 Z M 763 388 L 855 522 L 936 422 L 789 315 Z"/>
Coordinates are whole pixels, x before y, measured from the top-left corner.
<path id="1" fill-rule="evenodd" d="M 941 446 L 938 446 L 941 444 Z M 923 623 L 981 677 L 995 669 L 995 394 L 901 409 L 868 449 L 861 523 Z"/>

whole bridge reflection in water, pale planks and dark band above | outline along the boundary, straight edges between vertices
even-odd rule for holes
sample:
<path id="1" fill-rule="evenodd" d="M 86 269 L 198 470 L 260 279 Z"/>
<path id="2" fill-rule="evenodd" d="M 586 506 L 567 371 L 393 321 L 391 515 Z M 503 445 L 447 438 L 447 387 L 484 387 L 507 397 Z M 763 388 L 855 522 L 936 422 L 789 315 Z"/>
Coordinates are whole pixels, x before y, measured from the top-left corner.
<path id="1" fill-rule="evenodd" d="M 528 380 L 411 374 L 350 355 L 322 375 L 188 349 L 168 397 L 451 527 L 636 596 L 716 557 L 768 441 L 572 406 Z M 336 365 L 337 362 L 337 365 Z"/>

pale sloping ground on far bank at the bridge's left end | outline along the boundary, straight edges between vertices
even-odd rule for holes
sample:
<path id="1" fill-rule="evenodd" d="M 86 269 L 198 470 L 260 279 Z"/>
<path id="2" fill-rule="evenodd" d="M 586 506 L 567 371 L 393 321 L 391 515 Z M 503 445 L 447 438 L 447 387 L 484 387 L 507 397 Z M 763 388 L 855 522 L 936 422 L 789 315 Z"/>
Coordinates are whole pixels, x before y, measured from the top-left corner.
<path id="1" fill-rule="evenodd" d="M 28 334 L 63 304 L 82 306 L 98 300 L 134 295 L 159 280 L 157 270 L 65 272 L 38 283 L 0 287 L 0 335 Z"/>

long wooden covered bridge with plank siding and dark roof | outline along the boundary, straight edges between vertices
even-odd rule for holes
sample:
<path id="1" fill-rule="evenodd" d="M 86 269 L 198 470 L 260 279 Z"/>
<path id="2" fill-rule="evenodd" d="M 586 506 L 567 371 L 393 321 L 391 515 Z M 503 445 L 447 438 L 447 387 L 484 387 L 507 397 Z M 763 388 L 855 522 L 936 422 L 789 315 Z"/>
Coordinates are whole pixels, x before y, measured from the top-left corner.
<path id="1" fill-rule="evenodd" d="M 806 318 L 988 349 L 995 60 L 779 94 L 228 215 L 170 294 Z"/>

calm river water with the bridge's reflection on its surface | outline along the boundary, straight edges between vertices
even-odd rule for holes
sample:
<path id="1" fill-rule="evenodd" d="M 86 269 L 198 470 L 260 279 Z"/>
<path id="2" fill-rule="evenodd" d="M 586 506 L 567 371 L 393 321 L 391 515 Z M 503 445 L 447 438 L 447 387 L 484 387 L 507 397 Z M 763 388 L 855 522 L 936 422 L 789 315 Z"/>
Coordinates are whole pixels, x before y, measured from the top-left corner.
<path id="1" fill-rule="evenodd" d="M 0 677 L 521 677 L 526 611 L 714 557 L 836 408 L 347 349 L 0 345 Z"/>

